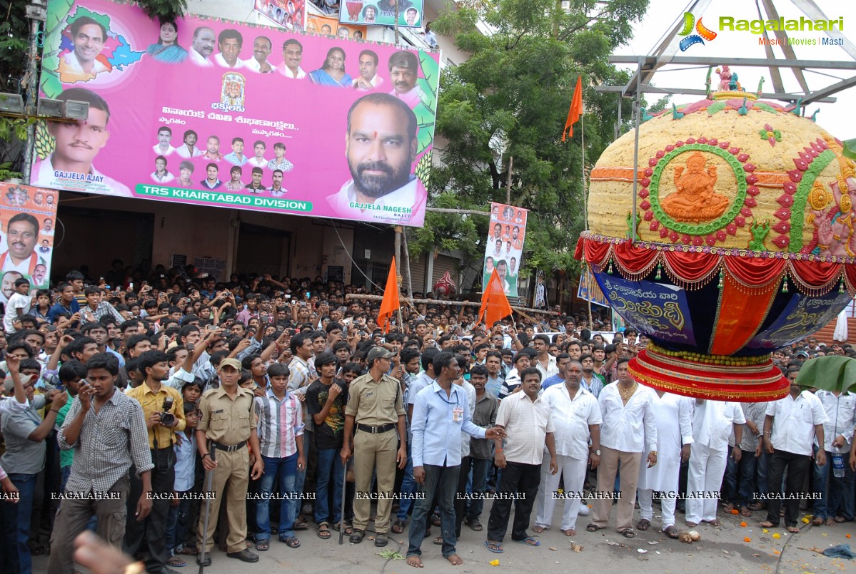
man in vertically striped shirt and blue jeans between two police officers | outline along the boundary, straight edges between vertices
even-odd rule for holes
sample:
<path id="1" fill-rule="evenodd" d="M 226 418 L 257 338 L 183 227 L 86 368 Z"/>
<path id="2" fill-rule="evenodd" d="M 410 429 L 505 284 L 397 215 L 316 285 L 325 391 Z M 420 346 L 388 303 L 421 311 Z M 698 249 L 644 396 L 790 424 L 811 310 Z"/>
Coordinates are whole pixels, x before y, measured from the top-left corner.
<path id="1" fill-rule="evenodd" d="M 270 388 L 264 397 L 255 398 L 259 417 L 259 447 L 265 474 L 261 478 L 261 500 L 256 505 L 256 549 L 270 547 L 270 494 L 279 475 L 278 492 L 282 496 L 279 512 L 279 540 L 288 547 L 300 546 L 294 536 L 294 514 L 297 506 L 297 472 L 306 468 L 303 454 L 303 415 L 300 401 L 288 393 L 288 367 L 274 363 L 268 367 Z"/>

